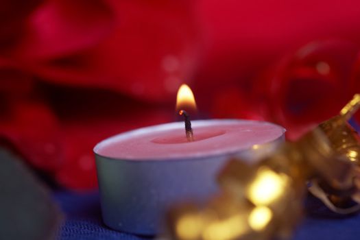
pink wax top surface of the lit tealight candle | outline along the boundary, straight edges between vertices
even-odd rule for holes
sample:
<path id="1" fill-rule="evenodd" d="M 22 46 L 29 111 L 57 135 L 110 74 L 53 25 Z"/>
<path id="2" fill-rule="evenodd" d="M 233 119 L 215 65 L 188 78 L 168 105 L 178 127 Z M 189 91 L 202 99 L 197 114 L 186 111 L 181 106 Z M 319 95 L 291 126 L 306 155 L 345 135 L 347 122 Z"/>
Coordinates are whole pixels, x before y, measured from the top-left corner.
<path id="1" fill-rule="evenodd" d="M 230 154 L 280 138 L 284 128 L 261 121 L 193 121 L 195 141 L 187 141 L 184 123 L 168 123 L 125 132 L 102 141 L 95 153 L 122 160 L 171 160 Z"/>

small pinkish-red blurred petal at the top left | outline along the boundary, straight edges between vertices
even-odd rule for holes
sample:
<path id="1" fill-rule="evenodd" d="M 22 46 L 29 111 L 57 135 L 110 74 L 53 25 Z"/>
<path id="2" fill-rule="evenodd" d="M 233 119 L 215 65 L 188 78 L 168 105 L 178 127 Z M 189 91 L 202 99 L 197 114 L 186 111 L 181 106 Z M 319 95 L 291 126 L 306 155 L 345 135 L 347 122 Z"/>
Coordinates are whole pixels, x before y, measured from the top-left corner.
<path id="1" fill-rule="evenodd" d="M 114 25 L 115 15 L 104 1 L 49 0 L 33 12 L 13 56 L 24 62 L 67 56 L 96 45 Z"/>

